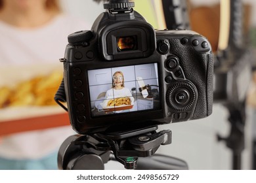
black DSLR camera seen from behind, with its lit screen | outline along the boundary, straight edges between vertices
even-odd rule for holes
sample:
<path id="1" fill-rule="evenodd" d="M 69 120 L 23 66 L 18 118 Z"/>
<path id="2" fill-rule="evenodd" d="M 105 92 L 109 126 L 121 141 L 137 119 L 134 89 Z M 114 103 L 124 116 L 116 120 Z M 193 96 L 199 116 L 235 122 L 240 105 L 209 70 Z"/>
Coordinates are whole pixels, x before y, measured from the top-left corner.
<path id="1" fill-rule="evenodd" d="M 213 54 L 207 39 L 194 31 L 155 31 L 129 5 L 107 8 L 91 31 L 68 36 L 61 59 L 74 130 L 141 129 L 209 116 Z"/>

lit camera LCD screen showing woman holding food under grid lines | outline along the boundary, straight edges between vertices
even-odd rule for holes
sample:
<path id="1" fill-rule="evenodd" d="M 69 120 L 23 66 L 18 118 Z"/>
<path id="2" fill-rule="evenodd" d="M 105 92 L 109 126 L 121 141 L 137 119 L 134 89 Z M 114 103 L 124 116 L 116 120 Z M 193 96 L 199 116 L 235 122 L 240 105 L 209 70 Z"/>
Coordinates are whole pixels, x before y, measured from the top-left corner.
<path id="1" fill-rule="evenodd" d="M 158 110 L 157 63 L 88 71 L 91 115 Z"/>

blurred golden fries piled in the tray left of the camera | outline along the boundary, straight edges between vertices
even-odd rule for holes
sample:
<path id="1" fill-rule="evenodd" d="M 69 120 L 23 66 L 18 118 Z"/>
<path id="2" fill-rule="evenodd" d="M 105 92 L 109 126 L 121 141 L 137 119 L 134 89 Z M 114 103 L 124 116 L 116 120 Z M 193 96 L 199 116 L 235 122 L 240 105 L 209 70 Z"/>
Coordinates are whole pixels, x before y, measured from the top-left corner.
<path id="1" fill-rule="evenodd" d="M 14 86 L 0 86 L 0 108 L 56 105 L 54 95 L 63 78 L 61 71 L 33 76 Z"/>

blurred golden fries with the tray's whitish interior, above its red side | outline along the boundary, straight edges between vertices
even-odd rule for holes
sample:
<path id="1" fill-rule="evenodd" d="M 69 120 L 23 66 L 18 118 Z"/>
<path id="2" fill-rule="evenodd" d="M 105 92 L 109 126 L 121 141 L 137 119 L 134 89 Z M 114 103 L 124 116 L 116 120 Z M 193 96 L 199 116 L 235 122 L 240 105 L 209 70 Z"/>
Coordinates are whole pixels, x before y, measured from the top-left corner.
<path id="1" fill-rule="evenodd" d="M 61 64 L 0 67 L 0 122 L 65 112 L 54 95 L 63 78 Z"/>

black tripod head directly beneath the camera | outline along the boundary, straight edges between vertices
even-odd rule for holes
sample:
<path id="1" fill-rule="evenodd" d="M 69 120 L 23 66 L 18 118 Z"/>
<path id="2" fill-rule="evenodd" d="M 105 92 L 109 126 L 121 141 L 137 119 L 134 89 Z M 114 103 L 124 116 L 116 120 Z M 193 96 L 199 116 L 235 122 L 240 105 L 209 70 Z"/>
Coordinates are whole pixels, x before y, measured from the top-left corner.
<path id="1" fill-rule="evenodd" d="M 181 159 L 155 155 L 160 145 L 171 144 L 171 131 L 157 126 L 114 133 L 72 135 L 58 151 L 58 169 L 104 169 L 104 163 L 119 161 L 125 169 L 188 169 Z"/>

